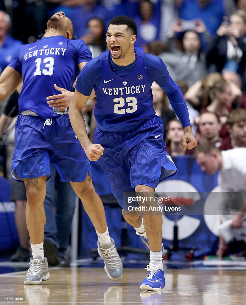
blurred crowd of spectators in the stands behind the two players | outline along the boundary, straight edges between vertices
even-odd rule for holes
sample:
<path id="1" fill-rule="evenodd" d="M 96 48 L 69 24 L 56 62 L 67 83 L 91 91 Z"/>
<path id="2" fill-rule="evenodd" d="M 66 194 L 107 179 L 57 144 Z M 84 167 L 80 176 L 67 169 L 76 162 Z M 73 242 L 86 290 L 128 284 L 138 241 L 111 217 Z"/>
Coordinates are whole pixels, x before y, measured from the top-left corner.
<path id="1" fill-rule="evenodd" d="M 198 142 L 206 139 L 223 150 L 245 146 L 246 0 L 16 0 L 1 1 L 0 9 L 8 13 L 0 13 L 1 70 L 19 44 L 42 37 L 48 17 L 57 11 L 72 20 L 76 38 L 87 43 L 93 57 L 107 48 L 109 20 L 133 17 L 136 46 L 167 65 L 183 91 Z M 152 91 L 168 152 L 191 154 L 180 149 L 183 131 L 165 93 L 155 83 Z M 92 141 L 95 102 L 84 110 Z"/>

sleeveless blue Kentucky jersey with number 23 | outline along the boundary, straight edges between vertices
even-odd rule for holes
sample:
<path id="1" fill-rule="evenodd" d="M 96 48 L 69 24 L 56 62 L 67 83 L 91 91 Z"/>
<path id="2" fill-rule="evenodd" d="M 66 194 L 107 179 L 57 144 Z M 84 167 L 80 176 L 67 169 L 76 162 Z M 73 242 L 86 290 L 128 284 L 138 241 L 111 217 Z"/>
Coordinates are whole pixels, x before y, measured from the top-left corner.
<path id="1" fill-rule="evenodd" d="M 98 128 L 116 131 L 146 121 L 155 115 L 151 83 L 146 77 L 144 51 L 135 48 L 136 65 L 127 77 L 116 75 L 110 66 L 109 51 L 100 55 L 101 82 L 95 86 L 95 118 Z"/>

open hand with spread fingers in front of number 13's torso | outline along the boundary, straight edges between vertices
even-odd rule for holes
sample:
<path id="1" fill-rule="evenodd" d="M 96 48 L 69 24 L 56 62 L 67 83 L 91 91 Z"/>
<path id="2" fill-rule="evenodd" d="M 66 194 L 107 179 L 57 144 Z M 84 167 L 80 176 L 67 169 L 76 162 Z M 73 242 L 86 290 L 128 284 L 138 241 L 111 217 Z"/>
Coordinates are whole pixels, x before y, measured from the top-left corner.
<path id="1" fill-rule="evenodd" d="M 57 91 L 62 92 L 61 94 L 47 96 L 46 99 L 49 101 L 47 104 L 50 107 L 55 107 L 57 109 L 67 108 L 70 105 L 70 102 L 73 98 L 73 92 L 66 90 L 65 88 L 60 88 L 56 84 L 54 87 Z"/>

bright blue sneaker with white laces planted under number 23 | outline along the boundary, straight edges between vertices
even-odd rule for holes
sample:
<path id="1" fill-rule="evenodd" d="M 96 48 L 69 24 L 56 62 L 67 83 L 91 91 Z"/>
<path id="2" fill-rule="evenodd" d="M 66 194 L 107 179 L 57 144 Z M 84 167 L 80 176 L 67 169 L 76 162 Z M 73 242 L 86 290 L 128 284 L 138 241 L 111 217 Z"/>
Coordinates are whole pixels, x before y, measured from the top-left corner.
<path id="1" fill-rule="evenodd" d="M 165 274 L 162 264 L 155 267 L 147 265 L 147 271 L 149 271 L 147 278 L 145 278 L 140 285 L 142 290 L 148 291 L 160 291 L 165 287 Z"/>

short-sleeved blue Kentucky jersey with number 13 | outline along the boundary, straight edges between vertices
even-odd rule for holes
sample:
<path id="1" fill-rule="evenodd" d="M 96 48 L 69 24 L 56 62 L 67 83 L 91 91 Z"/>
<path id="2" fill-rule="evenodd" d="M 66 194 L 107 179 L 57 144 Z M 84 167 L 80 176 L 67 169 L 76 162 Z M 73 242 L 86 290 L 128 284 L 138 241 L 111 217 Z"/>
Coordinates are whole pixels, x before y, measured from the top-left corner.
<path id="1" fill-rule="evenodd" d="M 31 110 L 45 119 L 59 116 L 53 107 L 48 106 L 46 97 L 59 94 L 54 83 L 72 91 L 79 72 L 78 64 L 91 59 L 91 51 L 83 40 L 63 36 L 44 37 L 20 46 L 9 63 L 23 75 L 19 113 Z"/>

